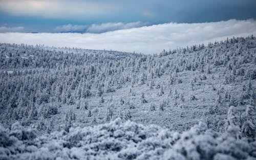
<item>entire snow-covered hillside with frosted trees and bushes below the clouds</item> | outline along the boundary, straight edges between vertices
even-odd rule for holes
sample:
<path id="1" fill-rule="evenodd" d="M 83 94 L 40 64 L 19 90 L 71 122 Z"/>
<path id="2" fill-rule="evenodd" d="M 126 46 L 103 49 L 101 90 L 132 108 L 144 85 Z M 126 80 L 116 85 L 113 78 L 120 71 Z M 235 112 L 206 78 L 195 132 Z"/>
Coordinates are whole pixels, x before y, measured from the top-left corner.
<path id="1" fill-rule="evenodd" d="M 155 55 L 0 44 L 0 159 L 255 159 L 256 38 Z"/>

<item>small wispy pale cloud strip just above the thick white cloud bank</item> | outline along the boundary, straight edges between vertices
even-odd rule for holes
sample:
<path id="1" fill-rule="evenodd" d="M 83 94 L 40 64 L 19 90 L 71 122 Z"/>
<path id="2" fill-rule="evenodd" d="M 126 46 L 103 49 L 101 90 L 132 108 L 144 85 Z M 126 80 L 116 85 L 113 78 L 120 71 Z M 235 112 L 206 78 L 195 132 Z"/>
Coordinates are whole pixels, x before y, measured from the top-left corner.
<path id="1" fill-rule="evenodd" d="M 55 28 L 56 32 L 78 32 L 78 33 L 104 33 L 109 31 L 123 30 L 123 29 L 131 29 L 145 26 L 146 23 L 136 21 L 130 23 L 122 23 L 122 22 L 108 22 L 104 24 L 93 24 L 90 26 L 86 25 L 63 25 L 57 26 Z"/>

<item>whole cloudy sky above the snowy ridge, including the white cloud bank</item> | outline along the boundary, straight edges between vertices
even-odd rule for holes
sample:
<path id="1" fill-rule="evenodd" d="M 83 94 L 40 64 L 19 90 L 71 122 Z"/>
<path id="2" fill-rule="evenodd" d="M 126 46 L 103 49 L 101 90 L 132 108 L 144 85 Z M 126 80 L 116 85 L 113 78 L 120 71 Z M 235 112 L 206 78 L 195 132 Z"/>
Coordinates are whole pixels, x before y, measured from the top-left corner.
<path id="1" fill-rule="evenodd" d="M 255 0 L 0 0 L 0 42 L 152 54 L 253 34 L 255 8 Z"/>

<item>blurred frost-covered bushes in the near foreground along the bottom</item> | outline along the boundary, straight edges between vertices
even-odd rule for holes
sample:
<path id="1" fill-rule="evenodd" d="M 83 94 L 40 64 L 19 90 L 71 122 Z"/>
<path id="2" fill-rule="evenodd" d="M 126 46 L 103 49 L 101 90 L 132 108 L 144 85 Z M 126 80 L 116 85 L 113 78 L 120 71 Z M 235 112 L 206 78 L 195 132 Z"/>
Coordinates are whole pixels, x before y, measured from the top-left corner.
<path id="1" fill-rule="evenodd" d="M 199 123 L 182 133 L 143 126 L 120 119 L 94 127 L 71 127 L 23 139 L 14 124 L 11 131 L 0 127 L 1 159 L 254 159 L 255 141 L 239 139 L 239 128 L 229 126 L 220 134 Z M 18 138 L 14 137 L 17 136 Z"/>

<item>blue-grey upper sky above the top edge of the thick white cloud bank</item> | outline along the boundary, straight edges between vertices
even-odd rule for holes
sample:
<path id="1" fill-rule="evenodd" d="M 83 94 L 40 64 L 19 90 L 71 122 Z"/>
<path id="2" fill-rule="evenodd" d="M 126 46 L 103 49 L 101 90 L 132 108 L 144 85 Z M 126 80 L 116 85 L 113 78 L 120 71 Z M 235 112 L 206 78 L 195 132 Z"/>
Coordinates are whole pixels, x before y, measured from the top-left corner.
<path id="1" fill-rule="evenodd" d="M 0 0 L 0 32 L 90 32 L 256 18 L 255 0 Z"/>

